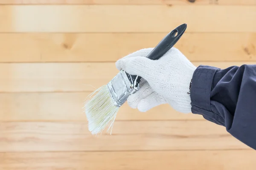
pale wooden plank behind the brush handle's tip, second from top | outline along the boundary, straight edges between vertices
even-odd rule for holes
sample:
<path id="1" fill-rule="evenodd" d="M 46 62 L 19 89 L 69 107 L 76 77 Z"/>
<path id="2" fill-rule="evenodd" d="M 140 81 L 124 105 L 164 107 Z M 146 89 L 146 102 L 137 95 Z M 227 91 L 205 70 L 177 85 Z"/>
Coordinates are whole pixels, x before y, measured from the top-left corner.
<path id="1" fill-rule="evenodd" d="M 181 23 L 187 32 L 256 30 L 256 6 L 6 5 L 0 11 L 0 32 L 168 32 Z"/>

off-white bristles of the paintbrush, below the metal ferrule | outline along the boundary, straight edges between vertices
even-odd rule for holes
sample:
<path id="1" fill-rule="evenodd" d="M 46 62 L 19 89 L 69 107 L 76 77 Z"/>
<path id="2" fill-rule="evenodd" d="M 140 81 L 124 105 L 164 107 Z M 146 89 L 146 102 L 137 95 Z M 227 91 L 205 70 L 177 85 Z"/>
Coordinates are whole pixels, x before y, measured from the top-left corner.
<path id="1" fill-rule="evenodd" d="M 93 96 L 93 94 L 96 95 Z M 90 132 L 92 134 L 100 133 L 108 125 L 108 131 L 111 129 L 112 132 L 113 123 L 119 108 L 114 105 L 107 85 L 100 87 L 88 97 L 90 100 L 85 103 L 84 108 Z"/>

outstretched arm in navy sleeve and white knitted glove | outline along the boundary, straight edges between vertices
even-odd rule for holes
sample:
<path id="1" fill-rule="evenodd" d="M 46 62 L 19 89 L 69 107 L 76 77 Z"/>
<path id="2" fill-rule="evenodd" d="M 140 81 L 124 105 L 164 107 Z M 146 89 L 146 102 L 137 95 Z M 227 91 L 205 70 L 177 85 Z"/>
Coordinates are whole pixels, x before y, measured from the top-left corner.
<path id="1" fill-rule="evenodd" d="M 116 62 L 118 69 L 145 79 L 128 97 L 131 108 L 145 112 L 168 103 L 176 111 L 201 114 L 226 127 L 256 149 L 256 65 L 195 67 L 177 48 L 158 60 L 146 58 L 151 50 L 141 49 Z"/>

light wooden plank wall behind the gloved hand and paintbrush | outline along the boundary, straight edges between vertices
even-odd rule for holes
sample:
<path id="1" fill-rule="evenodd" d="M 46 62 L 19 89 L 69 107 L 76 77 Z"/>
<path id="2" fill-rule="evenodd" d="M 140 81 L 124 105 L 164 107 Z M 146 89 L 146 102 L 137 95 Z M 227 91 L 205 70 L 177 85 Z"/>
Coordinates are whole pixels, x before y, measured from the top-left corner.
<path id="1" fill-rule="evenodd" d="M 87 129 L 84 99 L 114 62 L 182 23 L 195 65 L 256 63 L 256 0 L 0 0 L 0 169 L 255 170 L 224 127 L 168 105 Z"/>

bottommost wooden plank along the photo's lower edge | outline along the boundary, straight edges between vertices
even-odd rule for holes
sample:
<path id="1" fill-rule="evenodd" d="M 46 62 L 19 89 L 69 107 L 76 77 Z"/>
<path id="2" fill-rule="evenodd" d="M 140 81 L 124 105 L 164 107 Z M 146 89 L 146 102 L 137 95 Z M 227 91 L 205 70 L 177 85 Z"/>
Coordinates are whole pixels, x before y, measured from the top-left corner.
<path id="1" fill-rule="evenodd" d="M 253 150 L 25 152 L 0 157 L 1 170 L 157 170 L 160 165 L 161 170 L 254 170 L 256 166 Z"/>

